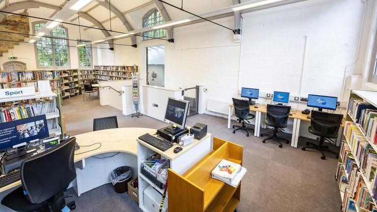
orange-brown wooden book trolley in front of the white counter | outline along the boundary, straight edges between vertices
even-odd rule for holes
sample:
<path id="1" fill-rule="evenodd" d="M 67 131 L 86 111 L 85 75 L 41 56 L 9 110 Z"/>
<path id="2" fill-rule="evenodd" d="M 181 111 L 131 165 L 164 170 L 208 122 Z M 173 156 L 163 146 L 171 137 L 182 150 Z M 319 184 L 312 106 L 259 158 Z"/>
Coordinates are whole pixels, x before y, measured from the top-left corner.
<path id="1" fill-rule="evenodd" d="M 241 198 L 237 187 L 215 180 L 214 167 L 226 159 L 242 165 L 243 147 L 214 137 L 214 150 L 183 175 L 168 170 L 169 211 L 234 212 Z"/>

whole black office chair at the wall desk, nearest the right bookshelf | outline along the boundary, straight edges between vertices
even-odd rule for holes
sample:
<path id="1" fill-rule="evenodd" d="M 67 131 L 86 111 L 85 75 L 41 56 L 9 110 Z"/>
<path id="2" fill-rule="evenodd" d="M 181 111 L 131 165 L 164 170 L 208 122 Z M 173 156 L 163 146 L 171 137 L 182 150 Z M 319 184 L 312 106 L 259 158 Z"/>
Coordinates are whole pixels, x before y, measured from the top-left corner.
<path id="1" fill-rule="evenodd" d="M 322 153 L 321 159 L 326 159 L 323 151 L 335 154 L 338 157 L 339 152 L 329 150 L 328 146 L 323 146 L 323 142 L 327 140 L 332 143 L 330 139 L 338 137 L 338 131 L 340 125 L 342 124 L 343 115 L 313 110 L 310 120 L 310 127 L 308 130 L 310 133 L 319 136 L 317 137 L 319 144 L 306 142 L 306 145 L 305 147 L 302 147 L 302 150 L 305 151 L 306 149 L 318 149 Z"/>

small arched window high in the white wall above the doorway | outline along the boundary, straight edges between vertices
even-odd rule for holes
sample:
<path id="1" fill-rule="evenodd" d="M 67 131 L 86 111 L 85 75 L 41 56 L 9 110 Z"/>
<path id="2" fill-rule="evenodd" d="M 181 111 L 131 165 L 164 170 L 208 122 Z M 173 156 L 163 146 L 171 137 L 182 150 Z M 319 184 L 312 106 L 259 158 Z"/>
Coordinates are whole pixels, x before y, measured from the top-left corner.
<path id="1" fill-rule="evenodd" d="M 162 23 L 165 23 L 165 21 L 163 20 L 161 13 L 157 9 L 149 11 L 143 18 L 144 28 L 155 26 Z M 147 32 L 144 32 L 144 36 L 156 37 L 156 38 L 165 37 L 165 29 L 155 29 L 155 30 L 147 31 Z M 148 37 L 144 37 L 144 40 L 151 39 Z"/>

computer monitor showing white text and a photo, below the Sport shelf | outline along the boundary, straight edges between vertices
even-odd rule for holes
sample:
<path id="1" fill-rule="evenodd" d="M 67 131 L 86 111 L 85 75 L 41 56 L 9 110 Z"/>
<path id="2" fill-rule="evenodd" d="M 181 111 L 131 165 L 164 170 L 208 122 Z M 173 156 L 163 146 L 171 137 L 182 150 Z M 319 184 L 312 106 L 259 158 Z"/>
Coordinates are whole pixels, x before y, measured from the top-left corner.
<path id="1" fill-rule="evenodd" d="M 0 152 L 49 137 L 46 115 L 0 124 Z"/>

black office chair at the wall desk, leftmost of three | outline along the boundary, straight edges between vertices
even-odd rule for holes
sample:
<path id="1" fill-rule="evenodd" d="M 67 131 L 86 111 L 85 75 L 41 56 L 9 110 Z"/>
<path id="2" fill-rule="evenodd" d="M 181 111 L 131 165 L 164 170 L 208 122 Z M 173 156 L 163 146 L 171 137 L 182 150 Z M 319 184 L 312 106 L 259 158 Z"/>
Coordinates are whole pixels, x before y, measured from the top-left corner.
<path id="1" fill-rule="evenodd" d="M 240 100 L 240 99 L 233 99 L 233 106 L 234 106 L 234 113 L 238 118 L 238 122 L 242 123 L 242 126 L 233 125 L 233 133 L 236 133 L 238 130 L 243 130 L 246 132 L 246 136 L 249 136 L 248 131 L 253 131 L 254 129 L 246 127 L 246 121 L 250 123 L 248 120 L 255 118 L 255 115 L 250 114 L 250 104 L 249 101 Z"/>

